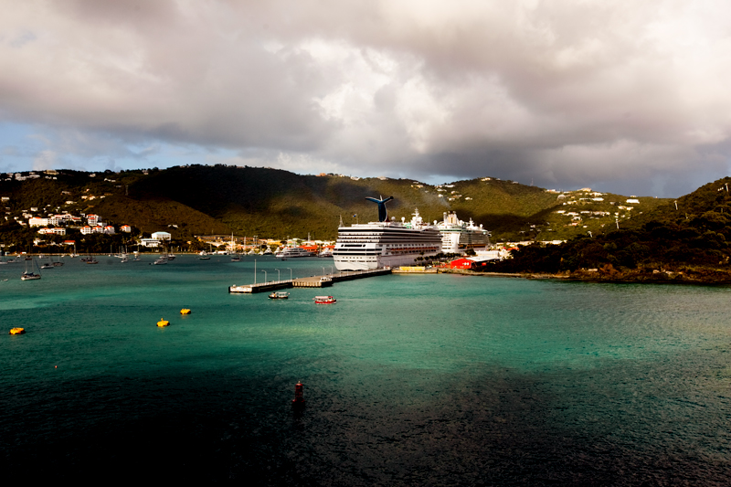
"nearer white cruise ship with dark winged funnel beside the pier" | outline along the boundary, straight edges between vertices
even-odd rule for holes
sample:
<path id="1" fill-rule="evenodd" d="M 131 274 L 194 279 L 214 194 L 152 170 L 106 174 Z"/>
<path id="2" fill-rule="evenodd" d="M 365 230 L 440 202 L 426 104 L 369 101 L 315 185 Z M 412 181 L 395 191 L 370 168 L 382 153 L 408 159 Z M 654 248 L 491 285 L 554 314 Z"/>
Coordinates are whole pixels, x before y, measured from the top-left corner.
<path id="1" fill-rule="evenodd" d="M 410 221 L 388 220 L 386 202 L 393 199 L 365 198 L 378 204 L 378 221 L 341 225 L 333 259 L 337 270 L 370 270 L 383 267 L 414 265 L 418 257 L 441 252 L 440 231 L 422 220 L 418 209 Z"/>

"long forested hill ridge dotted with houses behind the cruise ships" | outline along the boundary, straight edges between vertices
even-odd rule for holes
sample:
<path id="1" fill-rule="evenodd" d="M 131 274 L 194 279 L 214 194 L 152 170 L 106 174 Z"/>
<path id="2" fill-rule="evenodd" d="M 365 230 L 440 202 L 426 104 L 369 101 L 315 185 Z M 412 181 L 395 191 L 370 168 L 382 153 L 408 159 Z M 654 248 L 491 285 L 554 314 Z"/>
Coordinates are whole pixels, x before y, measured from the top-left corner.
<path id="1" fill-rule="evenodd" d="M 623 206 L 626 196 L 595 198 L 580 191 L 561 195 L 489 177 L 433 186 L 407 179 L 295 175 L 225 165 L 56 173 L 0 181 L 0 196 L 9 197 L 5 203 L 9 218 L 0 232 L 16 231 L 13 218 L 37 207 L 34 215 L 40 217 L 61 211 L 94 213 L 112 225 L 132 225 L 143 233 L 166 229 L 181 240 L 231 232 L 241 237 L 305 238 L 309 234 L 330 239 L 336 236 L 341 217 L 346 225 L 376 219 L 377 207 L 365 197 L 394 196 L 388 210 L 397 219 L 409 219 L 415 208 L 429 221 L 441 220 L 444 212 L 454 210 L 461 219 L 472 218 L 491 230 L 493 240 L 550 240 L 600 233 L 615 225 L 615 218 L 628 221 L 670 203 L 642 197 L 629 211 Z M 581 216 L 572 217 L 572 213 Z"/>

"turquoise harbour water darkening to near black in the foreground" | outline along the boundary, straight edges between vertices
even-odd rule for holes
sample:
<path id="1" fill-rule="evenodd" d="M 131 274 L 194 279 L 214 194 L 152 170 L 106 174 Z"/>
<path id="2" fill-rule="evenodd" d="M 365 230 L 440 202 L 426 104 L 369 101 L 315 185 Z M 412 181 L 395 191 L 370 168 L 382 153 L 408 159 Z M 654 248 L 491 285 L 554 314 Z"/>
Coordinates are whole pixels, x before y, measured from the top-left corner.
<path id="1" fill-rule="evenodd" d="M 250 257 L 100 259 L 40 281 L 0 266 L 2 323 L 27 330 L 0 340 L 0 406 L 18 413 L 0 419 L 1 458 L 38 476 L 159 462 L 164 479 L 272 485 L 731 472 L 729 288 L 391 275 L 335 284 L 324 306 L 315 290 L 228 294 L 253 281 Z M 331 262 L 260 257 L 257 279 Z"/>

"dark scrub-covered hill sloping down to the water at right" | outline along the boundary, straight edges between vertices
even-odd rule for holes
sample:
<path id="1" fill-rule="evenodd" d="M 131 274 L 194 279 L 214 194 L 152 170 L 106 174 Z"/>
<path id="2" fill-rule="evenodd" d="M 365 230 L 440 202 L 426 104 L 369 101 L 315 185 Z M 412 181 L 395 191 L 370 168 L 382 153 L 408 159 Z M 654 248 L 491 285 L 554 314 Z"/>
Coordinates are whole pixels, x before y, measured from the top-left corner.
<path id="1" fill-rule="evenodd" d="M 585 279 L 731 281 L 731 178 L 666 202 L 622 228 L 562 245 L 528 246 L 491 270 Z"/>

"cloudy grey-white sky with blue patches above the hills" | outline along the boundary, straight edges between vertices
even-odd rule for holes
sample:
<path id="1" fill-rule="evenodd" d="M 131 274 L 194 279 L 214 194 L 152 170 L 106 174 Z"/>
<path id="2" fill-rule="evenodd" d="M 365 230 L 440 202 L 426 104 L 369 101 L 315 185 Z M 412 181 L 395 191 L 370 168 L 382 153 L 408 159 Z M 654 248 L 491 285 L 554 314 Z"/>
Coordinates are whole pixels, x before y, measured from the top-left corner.
<path id="1" fill-rule="evenodd" d="M 0 172 L 236 164 L 661 197 L 729 174 L 724 0 L 0 8 Z"/>

